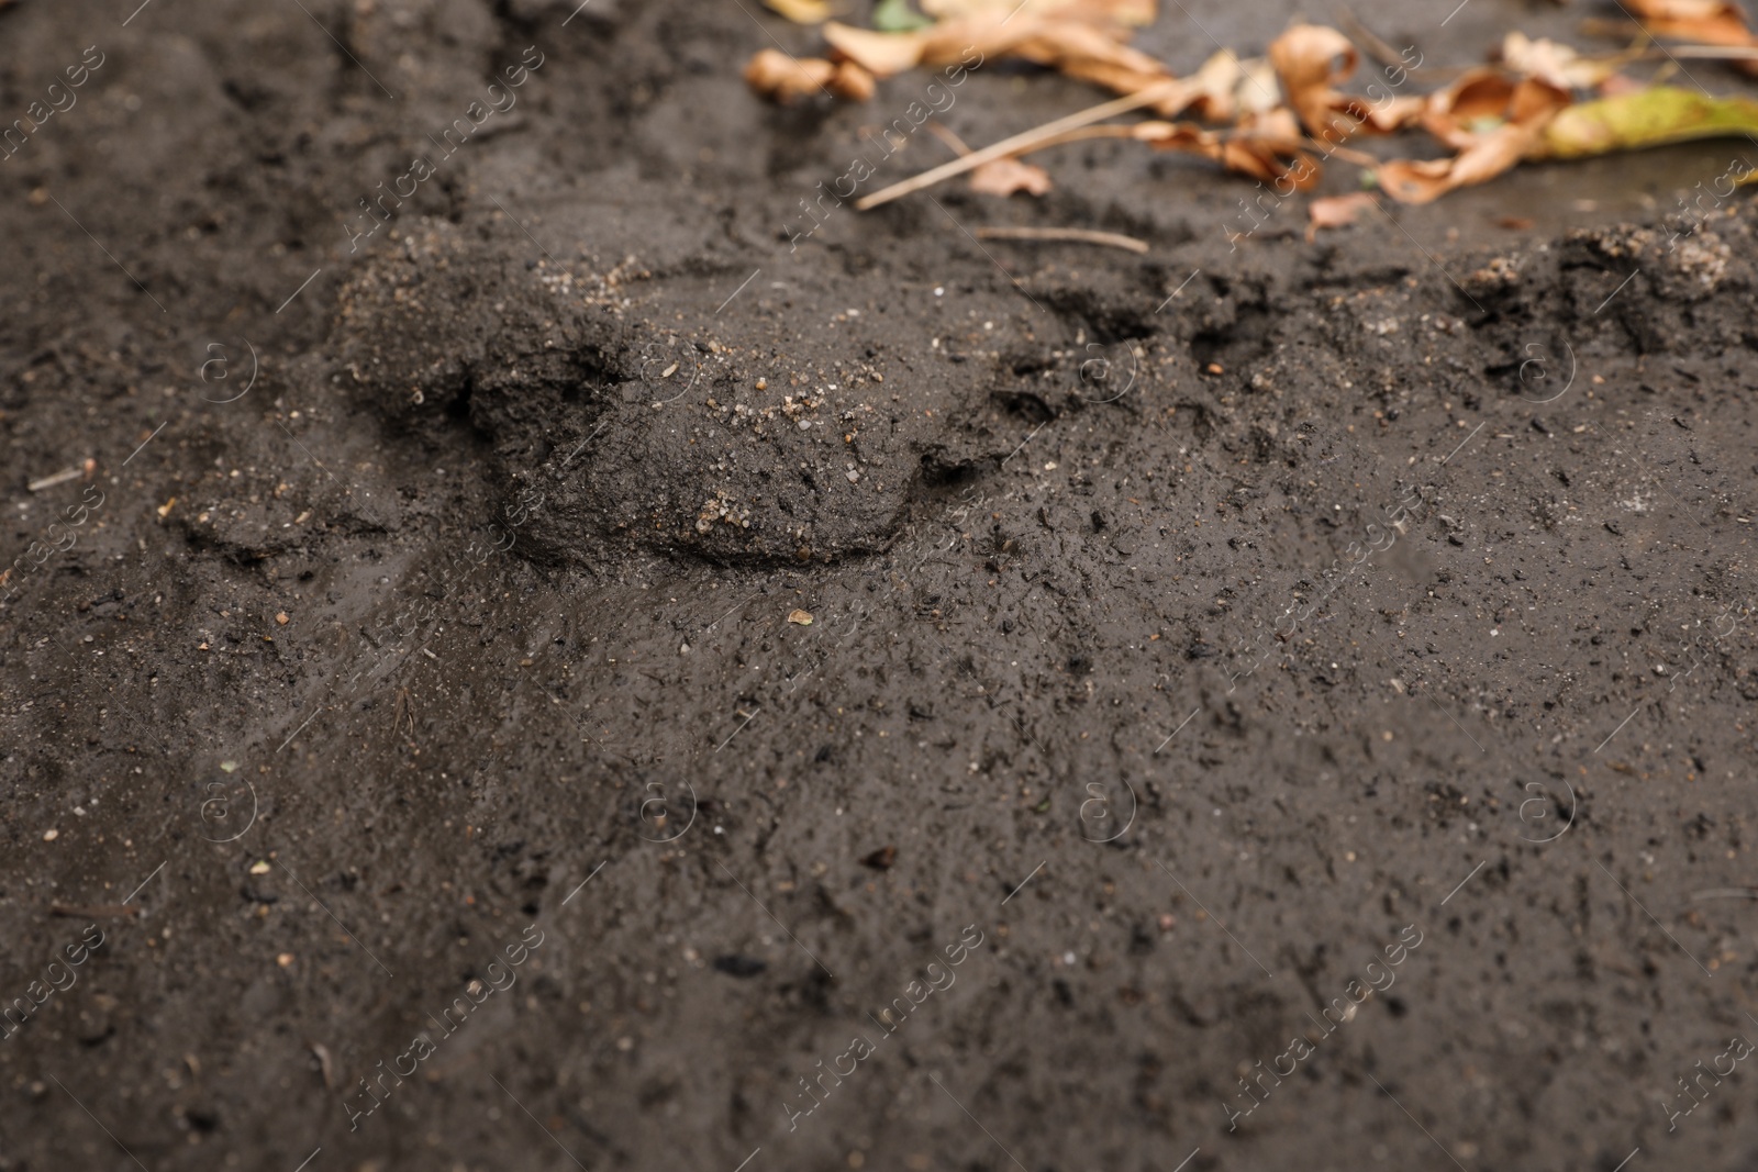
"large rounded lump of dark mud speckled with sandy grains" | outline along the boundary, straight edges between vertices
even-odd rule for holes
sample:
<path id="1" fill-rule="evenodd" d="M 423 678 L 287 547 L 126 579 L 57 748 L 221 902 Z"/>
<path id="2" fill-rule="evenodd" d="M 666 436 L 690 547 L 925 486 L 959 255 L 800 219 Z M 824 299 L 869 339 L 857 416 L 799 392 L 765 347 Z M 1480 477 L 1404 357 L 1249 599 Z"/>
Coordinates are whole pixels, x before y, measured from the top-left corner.
<path id="1" fill-rule="evenodd" d="M 566 265 L 529 260 L 512 232 L 420 221 L 339 293 L 322 374 L 429 441 L 485 436 L 506 499 L 543 497 L 526 555 L 870 553 L 912 506 L 939 506 L 1018 445 L 995 418 L 993 355 L 948 332 L 946 302 L 877 274 L 770 281 L 694 253 L 607 267 L 584 244 L 617 227 L 605 218 L 545 216 Z M 965 313 L 1020 313 L 1004 293 L 963 297 Z M 1083 392 L 1127 383 L 1118 371 Z"/>

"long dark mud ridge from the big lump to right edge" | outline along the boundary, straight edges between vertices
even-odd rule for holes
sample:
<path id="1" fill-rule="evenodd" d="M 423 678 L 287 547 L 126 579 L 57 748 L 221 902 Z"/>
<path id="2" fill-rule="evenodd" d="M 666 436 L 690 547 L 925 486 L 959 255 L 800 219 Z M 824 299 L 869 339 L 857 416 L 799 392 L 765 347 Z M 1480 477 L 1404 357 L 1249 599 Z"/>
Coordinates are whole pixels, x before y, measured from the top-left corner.
<path id="1" fill-rule="evenodd" d="M 548 211 L 564 239 L 603 230 L 596 207 Z M 1199 276 L 1169 313 L 1153 302 L 1176 267 L 1137 262 L 1101 283 L 1048 274 L 1037 295 L 1021 286 L 1032 306 L 958 290 L 981 307 L 960 322 L 944 290 L 886 267 L 832 290 L 763 281 L 752 262 L 738 283 L 744 264 L 714 253 L 524 260 L 515 234 L 425 220 L 341 290 L 323 371 L 394 430 L 468 420 L 498 455 L 503 510 L 543 501 L 526 529 L 536 561 L 594 566 L 633 545 L 830 562 L 884 550 L 914 504 L 997 469 L 1021 434 L 1109 404 L 1122 415 L 1104 427 L 1129 427 L 1171 392 L 1162 406 L 1204 432 L 1232 420 L 1266 457 L 1271 404 L 1313 371 L 1384 404 L 1424 380 L 1544 401 L 1584 353 L 1751 344 L 1753 269 L 1732 246 L 1749 239 L 1733 214 L 1672 239 L 1621 225 L 1461 257 L 1461 276 L 1294 253 Z"/>

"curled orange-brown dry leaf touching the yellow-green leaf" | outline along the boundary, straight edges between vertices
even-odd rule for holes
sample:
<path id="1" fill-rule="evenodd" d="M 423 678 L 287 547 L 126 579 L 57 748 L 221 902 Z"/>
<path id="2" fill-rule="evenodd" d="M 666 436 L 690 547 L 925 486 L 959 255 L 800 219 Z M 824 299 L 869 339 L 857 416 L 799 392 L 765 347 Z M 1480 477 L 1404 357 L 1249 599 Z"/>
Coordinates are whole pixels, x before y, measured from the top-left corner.
<path id="1" fill-rule="evenodd" d="M 1489 95 L 1496 90 L 1482 77 L 1466 83 L 1466 100 L 1443 111 L 1445 119 L 1440 107 L 1431 111 L 1436 114 L 1436 125 L 1449 132 L 1442 135 L 1436 130 L 1436 137 L 1459 146 L 1457 155 L 1420 162 L 1398 158 L 1380 163 L 1375 174 L 1387 195 L 1405 204 L 1429 204 L 1456 188 L 1494 179 L 1522 158 L 1544 158 L 1551 153 L 1545 128 L 1568 107 L 1572 100 L 1568 91 L 1531 77 L 1521 83 L 1507 83 L 1500 77 L 1496 81 L 1501 81 L 1505 88 L 1500 91 L 1501 104 L 1494 114 L 1482 112 L 1461 118 L 1471 111 L 1491 109 Z M 1493 118 L 1500 118 L 1500 121 L 1486 127 Z M 1477 127 L 1486 128 L 1478 130 Z"/>

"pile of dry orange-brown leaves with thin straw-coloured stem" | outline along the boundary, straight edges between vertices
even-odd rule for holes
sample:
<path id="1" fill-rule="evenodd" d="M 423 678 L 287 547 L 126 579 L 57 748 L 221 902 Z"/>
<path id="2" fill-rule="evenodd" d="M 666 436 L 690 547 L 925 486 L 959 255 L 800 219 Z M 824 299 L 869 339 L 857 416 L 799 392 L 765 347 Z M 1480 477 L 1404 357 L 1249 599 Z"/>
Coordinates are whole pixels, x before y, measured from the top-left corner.
<path id="1" fill-rule="evenodd" d="M 1326 162 L 1347 162 L 1391 199 L 1427 204 L 1521 162 L 1758 132 L 1758 100 L 1644 84 L 1626 72 L 1653 60 L 1649 39 L 1682 39 L 1695 42 L 1691 56 L 1726 56 L 1758 74 L 1758 37 L 1737 5 L 1719 0 L 1624 0 L 1644 39 L 1603 56 L 1514 32 L 1496 63 L 1452 70 L 1452 83 L 1431 93 L 1419 93 L 1412 77 L 1422 56 L 1406 49 L 1403 61 L 1389 60 L 1389 46 L 1371 33 L 1362 35 L 1378 65 L 1355 93 L 1357 47 L 1324 25 L 1290 26 L 1262 58 L 1224 49 L 1178 77 L 1127 44 L 1134 28 L 1153 23 L 1157 0 L 919 0 L 921 12 L 909 0 L 884 0 L 875 28 L 830 19 L 821 0 L 765 2 L 789 19 L 821 25 L 830 46 L 821 58 L 765 49 L 751 60 L 745 81 L 775 102 L 865 102 L 877 79 L 912 69 L 974 70 L 999 60 L 1041 65 L 1120 95 L 983 151 L 965 153 L 960 144 L 962 158 L 861 197 L 861 209 L 967 172 L 981 193 L 1042 195 L 1050 172 L 1020 156 L 1099 137 L 1197 155 L 1271 183 L 1282 195 L 1317 186 Z M 1132 111 L 1150 119 L 1111 121 Z M 1445 153 L 1385 160 L 1347 146 L 1406 132 L 1426 134 Z M 1348 223 L 1366 206 L 1361 197 L 1320 204 L 1311 209 L 1315 230 Z"/>

